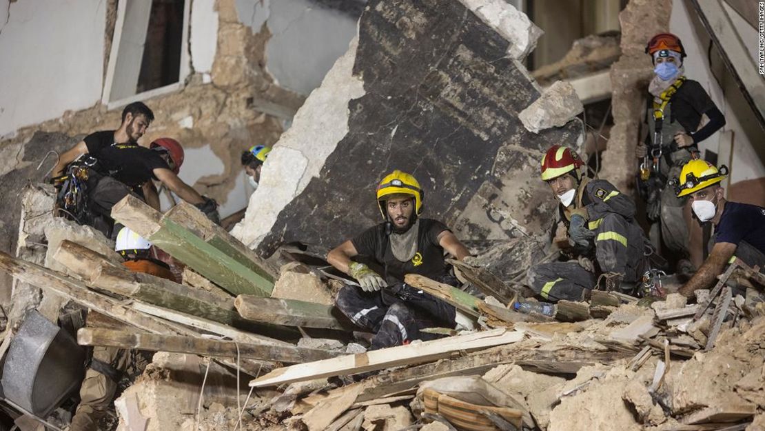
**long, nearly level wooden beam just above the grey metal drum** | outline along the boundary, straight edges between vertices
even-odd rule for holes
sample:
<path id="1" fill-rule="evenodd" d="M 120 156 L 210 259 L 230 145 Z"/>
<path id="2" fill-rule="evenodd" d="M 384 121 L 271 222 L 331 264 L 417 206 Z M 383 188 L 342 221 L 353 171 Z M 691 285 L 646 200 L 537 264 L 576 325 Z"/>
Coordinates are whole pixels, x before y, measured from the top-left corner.
<path id="1" fill-rule="evenodd" d="M 145 332 L 116 331 L 103 328 L 81 328 L 77 331 L 77 343 L 83 346 L 109 346 L 148 351 L 170 351 L 174 353 L 200 354 L 224 358 L 261 359 L 264 361 L 301 362 L 321 361 L 338 354 L 311 348 L 295 346 L 274 346 L 236 341 L 212 340 L 200 337 L 178 335 L 157 335 Z M 237 353 L 238 352 L 238 353 Z"/>

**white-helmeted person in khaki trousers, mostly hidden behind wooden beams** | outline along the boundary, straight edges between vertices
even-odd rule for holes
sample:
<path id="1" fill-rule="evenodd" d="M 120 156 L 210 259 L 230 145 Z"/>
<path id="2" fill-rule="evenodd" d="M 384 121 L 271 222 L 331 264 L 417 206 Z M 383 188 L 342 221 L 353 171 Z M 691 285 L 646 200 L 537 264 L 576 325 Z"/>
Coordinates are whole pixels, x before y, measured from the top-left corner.
<path id="1" fill-rule="evenodd" d="M 151 257 L 151 243 L 129 228 L 119 230 L 115 250 L 125 260 L 123 265 L 131 271 L 173 279 L 168 266 Z M 135 362 L 133 357 L 138 354 L 121 348 L 93 347 L 93 357 L 80 386 L 80 404 L 72 417 L 70 431 L 99 429 L 98 422 L 109 410 L 122 374 Z"/>

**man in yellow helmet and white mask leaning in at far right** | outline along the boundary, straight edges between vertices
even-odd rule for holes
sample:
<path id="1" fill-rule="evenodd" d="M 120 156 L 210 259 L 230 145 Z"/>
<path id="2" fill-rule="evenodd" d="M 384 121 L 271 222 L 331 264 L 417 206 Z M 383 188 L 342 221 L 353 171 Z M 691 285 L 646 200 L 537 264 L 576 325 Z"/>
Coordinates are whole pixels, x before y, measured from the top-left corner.
<path id="1" fill-rule="evenodd" d="M 709 256 L 679 290 L 685 296 L 713 286 L 734 256 L 749 266 L 765 267 L 765 208 L 726 201 L 720 181 L 727 175 L 725 166 L 718 169 L 703 160 L 688 162 L 680 172 L 677 196 L 688 196 L 699 223 L 715 226 Z"/>

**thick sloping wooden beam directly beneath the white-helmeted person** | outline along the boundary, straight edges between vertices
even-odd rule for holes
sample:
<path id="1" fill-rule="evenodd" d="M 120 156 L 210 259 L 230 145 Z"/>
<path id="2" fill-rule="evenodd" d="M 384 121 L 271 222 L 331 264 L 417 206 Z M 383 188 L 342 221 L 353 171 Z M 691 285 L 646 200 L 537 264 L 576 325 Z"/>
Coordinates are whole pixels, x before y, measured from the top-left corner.
<path id="1" fill-rule="evenodd" d="M 115 265 L 99 253 L 69 240 L 63 240 L 53 256 L 57 262 L 71 268 L 77 275 L 90 277 L 89 281 L 93 286 L 107 292 L 259 334 L 298 336 L 291 329 L 279 328 L 271 322 L 248 322 L 234 310 L 233 298 L 223 299 L 210 292 L 191 289 L 168 279 L 134 273 L 125 266 Z"/>

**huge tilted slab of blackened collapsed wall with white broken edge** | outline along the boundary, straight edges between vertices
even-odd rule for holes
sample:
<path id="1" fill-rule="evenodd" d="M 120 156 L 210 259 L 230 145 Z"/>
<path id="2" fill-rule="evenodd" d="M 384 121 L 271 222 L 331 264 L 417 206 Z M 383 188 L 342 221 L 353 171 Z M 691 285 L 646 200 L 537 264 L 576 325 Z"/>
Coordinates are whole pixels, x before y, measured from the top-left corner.
<path id="1" fill-rule="evenodd" d="M 540 33 L 505 2 L 369 2 L 234 236 L 263 255 L 291 241 L 334 247 L 379 222 L 374 188 L 393 169 L 415 175 L 425 217 L 463 239 L 539 232 L 553 210 L 542 152 L 581 134 L 578 121 L 533 134 L 518 118 L 540 96 L 521 64 Z"/>

